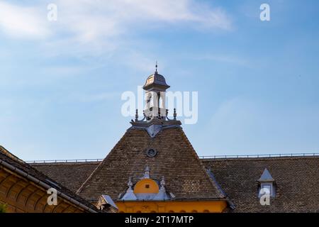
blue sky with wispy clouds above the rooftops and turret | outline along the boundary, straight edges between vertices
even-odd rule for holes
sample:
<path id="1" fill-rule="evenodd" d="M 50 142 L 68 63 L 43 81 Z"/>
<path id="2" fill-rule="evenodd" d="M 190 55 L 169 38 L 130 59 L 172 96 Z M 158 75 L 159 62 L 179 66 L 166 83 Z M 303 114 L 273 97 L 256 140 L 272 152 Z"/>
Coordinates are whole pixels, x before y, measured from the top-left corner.
<path id="1" fill-rule="evenodd" d="M 0 1 L 0 144 L 105 157 L 130 127 L 121 94 L 157 60 L 171 91 L 198 92 L 198 155 L 318 153 L 318 28 L 315 0 Z"/>

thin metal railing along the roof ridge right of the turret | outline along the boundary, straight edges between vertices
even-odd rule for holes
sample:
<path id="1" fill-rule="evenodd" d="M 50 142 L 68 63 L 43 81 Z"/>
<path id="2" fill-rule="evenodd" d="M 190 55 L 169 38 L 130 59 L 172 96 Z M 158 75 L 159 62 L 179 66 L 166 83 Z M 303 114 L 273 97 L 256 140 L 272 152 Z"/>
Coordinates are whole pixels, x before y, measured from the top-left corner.
<path id="1" fill-rule="evenodd" d="M 319 153 L 289 153 L 289 154 L 262 154 L 262 155 L 200 155 L 201 159 L 222 159 L 222 158 L 259 158 L 259 157 L 315 157 Z"/>

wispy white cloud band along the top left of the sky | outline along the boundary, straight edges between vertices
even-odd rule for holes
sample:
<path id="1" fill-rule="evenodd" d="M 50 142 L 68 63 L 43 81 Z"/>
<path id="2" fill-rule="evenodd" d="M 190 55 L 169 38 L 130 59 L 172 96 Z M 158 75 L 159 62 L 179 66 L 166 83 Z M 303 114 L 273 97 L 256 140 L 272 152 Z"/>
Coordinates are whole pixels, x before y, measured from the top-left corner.
<path id="1" fill-rule="evenodd" d="M 67 34 L 79 43 L 101 43 L 156 23 L 194 23 L 209 29 L 231 27 L 224 11 L 192 0 L 58 0 L 55 4 L 57 22 L 48 22 L 44 4 L 26 7 L 0 3 L 0 28 L 20 38 L 43 38 L 52 30 L 55 40 L 58 35 Z"/>

